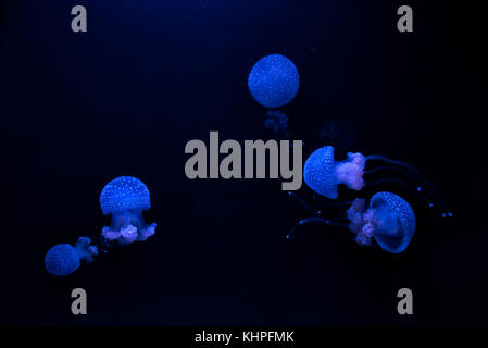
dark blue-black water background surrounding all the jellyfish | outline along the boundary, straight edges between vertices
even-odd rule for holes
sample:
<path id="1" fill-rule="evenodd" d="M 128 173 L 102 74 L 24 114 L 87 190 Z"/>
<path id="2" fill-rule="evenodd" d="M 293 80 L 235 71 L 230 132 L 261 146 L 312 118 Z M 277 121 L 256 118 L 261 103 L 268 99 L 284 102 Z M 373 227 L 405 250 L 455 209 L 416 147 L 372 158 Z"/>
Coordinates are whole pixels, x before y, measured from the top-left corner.
<path id="1" fill-rule="evenodd" d="M 445 1 L 2 1 L 3 325 L 487 324 L 481 10 Z M 88 32 L 71 30 L 71 9 Z M 410 4 L 414 33 L 397 30 Z M 290 58 L 300 91 L 283 110 L 304 158 L 326 144 L 418 167 L 450 206 L 417 215 L 401 254 L 360 248 L 309 216 L 280 181 L 189 181 L 185 144 L 266 139 L 252 65 Z M 321 139 L 320 130 L 329 129 Z M 331 129 L 331 130 L 330 130 Z M 157 235 L 67 277 L 47 250 L 98 240 L 99 194 L 133 175 L 151 191 Z M 303 185 L 304 197 L 310 190 Z M 88 315 L 71 313 L 71 291 Z M 397 291 L 414 315 L 397 314 Z"/>

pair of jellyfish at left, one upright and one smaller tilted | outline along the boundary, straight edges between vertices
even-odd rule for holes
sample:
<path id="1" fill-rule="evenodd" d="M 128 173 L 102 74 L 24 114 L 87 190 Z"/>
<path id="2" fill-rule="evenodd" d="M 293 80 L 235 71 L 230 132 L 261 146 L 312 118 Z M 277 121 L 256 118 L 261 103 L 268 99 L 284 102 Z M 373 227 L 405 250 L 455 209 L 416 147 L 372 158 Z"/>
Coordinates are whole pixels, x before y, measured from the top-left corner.
<path id="1" fill-rule="evenodd" d="M 107 184 L 100 195 L 100 207 L 104 215 L 111 215 L 110 225 L 100 234 L 100 248 L 85 236 L 74 246 L 55 245 L 45 257 L 45 268 L 50 274 L 70 275 L 83 261 L 93 261 L 99 249 L 107 251 L 115 246 L 145 241 L 155 233 L 155 223 L 149 225 L 142 216 L 142 212 L 151 208 L 149 189 L 136 177 L 121 176 Z"/>

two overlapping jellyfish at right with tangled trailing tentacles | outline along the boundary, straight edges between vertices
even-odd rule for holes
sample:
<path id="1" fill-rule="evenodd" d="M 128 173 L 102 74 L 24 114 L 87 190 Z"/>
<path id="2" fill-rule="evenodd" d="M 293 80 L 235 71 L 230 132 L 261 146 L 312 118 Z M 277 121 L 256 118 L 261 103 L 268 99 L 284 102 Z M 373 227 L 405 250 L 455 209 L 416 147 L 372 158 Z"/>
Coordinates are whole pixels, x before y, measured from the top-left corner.
<path id="1" fill-rule="evenodd" d="M 371 170 L 366 170 L 366 162 L 380 163 Z M 377 175 L 381 171 L 397 172 L 399 177 L 383 177 L 376 181 L 367 181 L 367 175 Z M 403 177 L 402 177 L 403 176 Z M 314 194 L 314 200 L 326 198 L 328 201 L 318 202 L 320 208 L 313 209 L 301 197 L 289 192 L 312 214 L 312 217 L 299 221 L 287 235 L 290 238 L 296 229 L 308 223 L 321 223 L 328 226 L 342 228 L 351 239 L 360 246 L 371 246 L 373 239 L 379 247 L 391 253 L 399 253 L 406 249 L 415 233 L 416 219 L 411 204 L 402 197 L 387 191 L 380 191 L 370 199 L 356 198 L 354 201 L 331 201 L 338 198 L 338 186 L 360 191 L 364 186 L 375 186 L 384 182 L 392 182 L 406 188 L 416 197 L 423 199 L 426 206 L 440 213 L 442 217 L 451 217 L 452 213 L 447 209 L 434 186 L 414 166 L 409 163 L 388 159 L 384 156 L 361 153 L 348 153 L 343 161 L 336 161 L 334 147 L 322 147 L 306 159 L 303 167 L 303 179 Z M 408 181 L 405 181 L 408 179 Z M 342 217 L 324 217 L 335 210 L 345 212 Z M 343 221 L 346 220 L 346 221 Z"/>

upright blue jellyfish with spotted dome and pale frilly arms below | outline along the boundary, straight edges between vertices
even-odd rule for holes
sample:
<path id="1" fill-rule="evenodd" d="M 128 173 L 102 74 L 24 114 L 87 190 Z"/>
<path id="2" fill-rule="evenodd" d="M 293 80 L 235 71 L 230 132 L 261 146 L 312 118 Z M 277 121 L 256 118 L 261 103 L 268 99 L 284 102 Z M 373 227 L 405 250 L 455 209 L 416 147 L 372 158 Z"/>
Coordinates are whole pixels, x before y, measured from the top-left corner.
<path id="1" fill-rule="evenodd" d="M 103 187 L 100 195 L 103 214 L 112 215 L 110 226 L 102 229 L 102 243 L 116 240 L 128 245 L 135 240 L 147 240 L 155 232 L 155 223 L 148 225 L 142 211 L 151 208 L 149 190 L 136 177 L 121 176 Z"/>

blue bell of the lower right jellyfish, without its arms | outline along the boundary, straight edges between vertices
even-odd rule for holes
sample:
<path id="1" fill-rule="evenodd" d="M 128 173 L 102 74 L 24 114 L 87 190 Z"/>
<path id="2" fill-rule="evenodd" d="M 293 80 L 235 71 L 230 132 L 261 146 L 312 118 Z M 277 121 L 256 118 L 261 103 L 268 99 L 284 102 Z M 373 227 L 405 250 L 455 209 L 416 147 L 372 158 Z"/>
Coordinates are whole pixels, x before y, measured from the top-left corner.
<path id="1" fill-rule="evenodd" d="M 415 233 L 415 214 L 412 207 L 401 197 L 391 192 L 378 192 L 371 198 L 374 209 L 383 224 L 375 231 L 378 245 L 388 252 L 402 252 Z M 386 223 L 385 223 L 386 222 Z M 395 224 L 395 232 L 391 225 Z M 390 231 L 389 231 L 390 229 Z"/>

